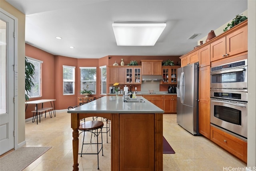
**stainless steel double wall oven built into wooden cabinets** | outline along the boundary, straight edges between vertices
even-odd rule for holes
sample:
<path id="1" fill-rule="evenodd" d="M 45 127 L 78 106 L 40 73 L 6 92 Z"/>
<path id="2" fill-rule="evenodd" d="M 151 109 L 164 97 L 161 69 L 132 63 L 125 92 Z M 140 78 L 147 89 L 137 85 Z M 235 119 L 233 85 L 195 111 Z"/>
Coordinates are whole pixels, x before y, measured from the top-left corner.
<path id="1" fill-rule="evenodd" d="M 247 141 L 247 59 L 211 68 L 210 121 Z"/>

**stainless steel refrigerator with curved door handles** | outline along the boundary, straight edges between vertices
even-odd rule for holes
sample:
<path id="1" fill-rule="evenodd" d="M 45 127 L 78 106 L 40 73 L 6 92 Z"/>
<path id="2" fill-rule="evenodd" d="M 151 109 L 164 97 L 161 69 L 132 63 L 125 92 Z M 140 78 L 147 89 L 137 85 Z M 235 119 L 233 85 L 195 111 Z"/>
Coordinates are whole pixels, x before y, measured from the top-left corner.
<path id="1" fill-rule="evenodd" d="M 177 123 L 193 135 L 198 133 L 198 63 L 177 71 Z"/>

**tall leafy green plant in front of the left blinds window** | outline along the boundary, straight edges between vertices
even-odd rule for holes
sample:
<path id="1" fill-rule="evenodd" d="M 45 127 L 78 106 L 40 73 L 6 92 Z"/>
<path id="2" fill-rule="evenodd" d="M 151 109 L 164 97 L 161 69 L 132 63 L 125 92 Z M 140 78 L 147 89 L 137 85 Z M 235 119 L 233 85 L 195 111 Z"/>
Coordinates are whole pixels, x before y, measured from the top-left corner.
<path id="1" fill-rule="evenodd" d="M 25 99 L 26 101 L 29 100 L 28 92 L 31 91 L 32 87 L 34 87 L 34 75 L 35 73 L 35 66 L 28 61 L 28 59 L 25 57 Z"/>

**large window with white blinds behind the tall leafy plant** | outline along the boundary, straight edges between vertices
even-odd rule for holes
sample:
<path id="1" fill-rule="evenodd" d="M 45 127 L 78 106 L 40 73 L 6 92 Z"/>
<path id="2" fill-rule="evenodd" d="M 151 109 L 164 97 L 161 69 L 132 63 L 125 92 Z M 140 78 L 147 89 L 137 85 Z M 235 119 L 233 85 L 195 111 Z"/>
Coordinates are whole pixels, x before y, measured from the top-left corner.
<path id="1" fill-rule="evenodd" d="M 31 88 L 31 91 L 28 92 L 28 97 L 42 97 L 42 63 L 43 61 L 36 60 L 34 58 L 27 57 L 28 62 L 32 63 L 35 66 L 35 74 L 33 75 L 34 87 Z M 25 93 L 27 93 L 25 91 Z"/>

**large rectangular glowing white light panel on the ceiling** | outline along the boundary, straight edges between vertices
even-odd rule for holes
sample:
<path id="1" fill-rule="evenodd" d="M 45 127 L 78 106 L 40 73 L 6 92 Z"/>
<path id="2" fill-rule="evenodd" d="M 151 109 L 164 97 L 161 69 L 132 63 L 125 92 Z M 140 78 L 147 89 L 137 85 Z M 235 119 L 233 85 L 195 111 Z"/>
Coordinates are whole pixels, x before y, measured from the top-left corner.
<path id="1" fill-rule="evenodd" d="M 117 46 L 154 46 L 164 31 L 164 22 L 114 22 Z"/>

